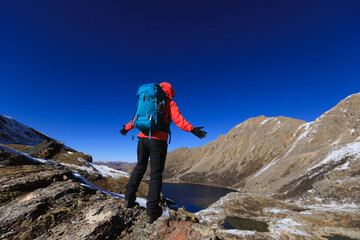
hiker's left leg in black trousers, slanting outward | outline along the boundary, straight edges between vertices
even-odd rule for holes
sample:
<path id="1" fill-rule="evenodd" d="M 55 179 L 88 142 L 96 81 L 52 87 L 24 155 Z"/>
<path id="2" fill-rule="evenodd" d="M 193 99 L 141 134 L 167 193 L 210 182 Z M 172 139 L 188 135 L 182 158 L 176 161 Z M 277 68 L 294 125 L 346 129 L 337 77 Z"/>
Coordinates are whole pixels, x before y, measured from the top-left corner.
<path id="1" fill-rule="evenodd" d="M 150 156 L 149 139 L 139 138 L 137 147 L 137 164 L 131 173 L 129 183 L 126 185 L 125 200 L 134 203 L 136 200 L 136 192 L 140 182 L 146 172 L 147 164 Z"/>

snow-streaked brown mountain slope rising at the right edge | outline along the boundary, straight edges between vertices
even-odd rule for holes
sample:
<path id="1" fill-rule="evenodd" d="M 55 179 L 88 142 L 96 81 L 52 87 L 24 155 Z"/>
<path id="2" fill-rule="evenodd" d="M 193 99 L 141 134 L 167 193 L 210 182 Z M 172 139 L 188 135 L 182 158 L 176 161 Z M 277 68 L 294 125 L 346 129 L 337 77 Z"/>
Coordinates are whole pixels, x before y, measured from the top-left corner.
<path id="1" fill-rule="evenodd" d="M 348 201 L 359 202 L 359 136 L 358 93 L 342 100 L 315 121 L 301 125 L 285 151 L 245 179 L 241 189 L 283 198 L 314 190 L 339 201 L 346 197 Z M 339 194 L 345 189 L 348 189 L 345 196 Z"/>

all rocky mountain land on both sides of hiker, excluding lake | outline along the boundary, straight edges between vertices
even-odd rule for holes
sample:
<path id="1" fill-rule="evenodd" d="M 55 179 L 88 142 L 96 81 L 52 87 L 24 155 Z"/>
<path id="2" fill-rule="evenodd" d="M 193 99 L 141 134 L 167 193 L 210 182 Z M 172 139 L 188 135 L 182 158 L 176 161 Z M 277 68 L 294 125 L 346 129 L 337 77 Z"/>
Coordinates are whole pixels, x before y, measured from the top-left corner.
<path id="1" fill-rule="evenodd" d="M 169 152 L 165 181 L 237 191 L 195 216 L 165 208 L 170 216 L 144 225 L 144 209 L 118 194 L 128 173 L 0 115 L 0 238 L 360 239 L 359 127 L 357 93 L 312 122 L 254 117 Z"/>

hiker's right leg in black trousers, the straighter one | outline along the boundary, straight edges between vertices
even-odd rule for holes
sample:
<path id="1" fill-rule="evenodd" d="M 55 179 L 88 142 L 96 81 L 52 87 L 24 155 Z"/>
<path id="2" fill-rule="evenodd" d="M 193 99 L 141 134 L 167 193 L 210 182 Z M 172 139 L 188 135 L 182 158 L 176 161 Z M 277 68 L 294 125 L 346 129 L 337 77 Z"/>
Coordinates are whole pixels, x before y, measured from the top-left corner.
<path id="1" fill-rule="evenodd" d="M 162 173 L 165 167 L 167 154 L 167 142 L 157 139 L 150 141 L 150 183 L 147 202 L 147 215 L 157 216 L 162 212 L 160 203 L 160 192 L 162 188 Z M 158 217 L 158 216 L 157 216 Z"/>

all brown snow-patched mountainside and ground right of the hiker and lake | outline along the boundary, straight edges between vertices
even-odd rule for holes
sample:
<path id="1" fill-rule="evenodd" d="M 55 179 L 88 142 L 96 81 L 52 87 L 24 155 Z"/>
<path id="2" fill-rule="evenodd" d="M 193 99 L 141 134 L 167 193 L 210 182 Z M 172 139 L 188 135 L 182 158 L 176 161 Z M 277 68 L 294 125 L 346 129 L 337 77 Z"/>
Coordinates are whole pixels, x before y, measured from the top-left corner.
<path id="1" fill-rule="evenodd" d="M 313 122 L 286 120 L 252 118 L 203 147 L 171 152 L 168 180 L 238 189 L 196 214 L 234 228 L 224 238 L 360 239 L 360 93 Z"/>

